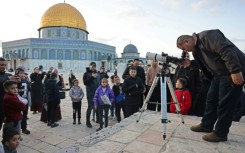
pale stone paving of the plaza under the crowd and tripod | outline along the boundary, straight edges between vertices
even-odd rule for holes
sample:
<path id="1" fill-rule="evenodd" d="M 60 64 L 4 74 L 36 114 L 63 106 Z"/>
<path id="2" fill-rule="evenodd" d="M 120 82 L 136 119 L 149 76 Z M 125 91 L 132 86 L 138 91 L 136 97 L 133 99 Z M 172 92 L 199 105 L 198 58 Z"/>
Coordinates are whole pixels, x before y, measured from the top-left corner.
<path id="1" fill-rule="evenodd" d="M 78 77 L 78 76 L 77 76 Z M 81 81 L 80 81 L 81 82 Z M 82 85 L 82 84 L 81 84 Z M 82 85 L 84 88 L 84 86 Z M 167 138 L 163 140 L 161 115 L 145 111 L 138 123 L 139 113 L 117 123 L 109 120 L 108 128 L 96 132 L 85 125 L 86 97 L 82 104 L 82 124 L 72 124 L 70 98 L 62 100 L 62 120 L 56 128 L 47 127 L 40 113 L 29 113 L 30 135 L 22 134 L 19 153 L 243 153 L 245 150 L 245 118 L 234 122 L 227 142 L 210 143 L 202 140 L 204 133 L 190 131 L 201 118 L 184 116 L 185 124 L 176 114 L 168 114 Z"/>

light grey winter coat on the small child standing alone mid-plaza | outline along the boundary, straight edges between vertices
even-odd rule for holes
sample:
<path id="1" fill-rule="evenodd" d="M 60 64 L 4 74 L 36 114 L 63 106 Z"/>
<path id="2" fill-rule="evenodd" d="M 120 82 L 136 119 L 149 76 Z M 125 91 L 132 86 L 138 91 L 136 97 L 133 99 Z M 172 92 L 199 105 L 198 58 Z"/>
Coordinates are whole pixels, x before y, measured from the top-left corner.
<path id="1" fill-rule="evenodd" d="M 72 86 L 69 95 L 72 102 L 80 102 L 83 99 L 84 93 L 80 86 Z"/>

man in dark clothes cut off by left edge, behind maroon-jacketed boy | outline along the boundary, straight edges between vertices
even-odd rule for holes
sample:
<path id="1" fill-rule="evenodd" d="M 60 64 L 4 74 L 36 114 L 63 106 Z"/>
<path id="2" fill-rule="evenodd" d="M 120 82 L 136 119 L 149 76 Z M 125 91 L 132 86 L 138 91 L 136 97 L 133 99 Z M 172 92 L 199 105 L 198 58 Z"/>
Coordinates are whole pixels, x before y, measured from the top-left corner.
<path id="1" fill-rule="evenodd" d="M 3 118 L 4 118 L 3 96 L 5 92 L 3 88 L 3 82 L 5 80 L 9 80 L 9 77 L 11 76 L 11 74 L 5 73 L 6 66 L 7 66 L 7 61 L 5 61 L 4 58 L 0 57 L 0 130 L 2 129 Z"/>

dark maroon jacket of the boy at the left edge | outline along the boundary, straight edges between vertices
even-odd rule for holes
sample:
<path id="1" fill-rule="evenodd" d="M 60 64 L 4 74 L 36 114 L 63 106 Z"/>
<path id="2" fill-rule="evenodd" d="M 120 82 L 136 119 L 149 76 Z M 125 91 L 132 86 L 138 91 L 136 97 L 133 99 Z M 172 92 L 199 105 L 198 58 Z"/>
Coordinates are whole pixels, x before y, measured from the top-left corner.
<path id="1" fill-rule="evenodd" d="M 5 93 L 3 98 L 3 108 L 5 122 L 14 122 L 22 120 L 21 111 L 25 110 L 26 106 L 16 95 Z"/>

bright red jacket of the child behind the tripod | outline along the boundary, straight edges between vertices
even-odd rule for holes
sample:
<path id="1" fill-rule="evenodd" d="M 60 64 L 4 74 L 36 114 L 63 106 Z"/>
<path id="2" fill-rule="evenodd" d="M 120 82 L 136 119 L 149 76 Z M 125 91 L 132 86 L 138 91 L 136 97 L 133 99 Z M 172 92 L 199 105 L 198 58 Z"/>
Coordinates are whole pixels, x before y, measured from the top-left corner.
<path id="1" fill-rule="evenodd" d="M 189 90 L 177 89 L 175 90 L 175 94 L 177 96 L 182 115 L 188 115 L 188 110 L 191 108 L 191 94 Z M 173 102 L 173 98 L 171 99 L 171 101 Z M 170 112 L 176 113 L 175 104 L 170 105 Z"/>

